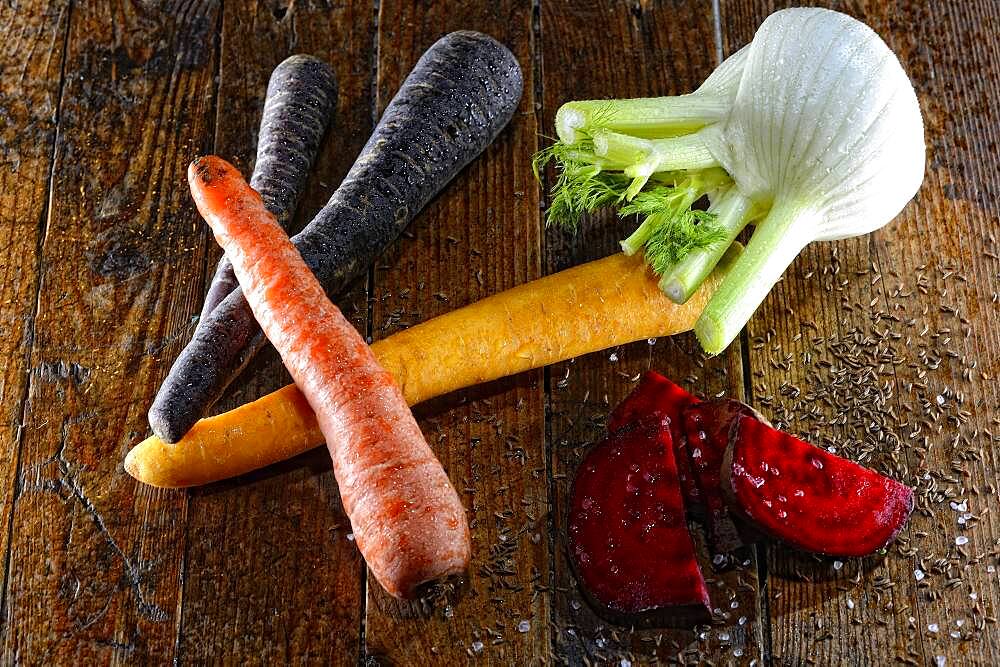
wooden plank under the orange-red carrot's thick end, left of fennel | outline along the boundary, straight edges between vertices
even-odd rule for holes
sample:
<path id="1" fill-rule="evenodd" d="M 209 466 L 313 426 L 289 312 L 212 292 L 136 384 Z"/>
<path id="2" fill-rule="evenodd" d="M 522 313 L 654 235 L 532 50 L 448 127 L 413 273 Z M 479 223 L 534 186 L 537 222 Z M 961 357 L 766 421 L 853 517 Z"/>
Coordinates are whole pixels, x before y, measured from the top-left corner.
<path id="1" fill-rule="evenodd" d="M 480 30 L 507 44 L 521 62 L 525 92 L 511 126 L 377 267 L 375 337 L 539 274 L 531 21 L 531 3 L 521 0 L 380 5 L 379 108 L 420 54 L 457 29 Z M 540 379 L 527 373 L 418 409 L 428 441 L 470 510 L 472 571 L 457 599 L 436 606 L 392 600 L 369 578 L 371 655 L 398 664 L 454 664 L 470 655 L 528 664 L 547 651 L 548 601 L 536 594 L 548 572 Z M 497 574 L 489 576 L 488 568 Z"/>

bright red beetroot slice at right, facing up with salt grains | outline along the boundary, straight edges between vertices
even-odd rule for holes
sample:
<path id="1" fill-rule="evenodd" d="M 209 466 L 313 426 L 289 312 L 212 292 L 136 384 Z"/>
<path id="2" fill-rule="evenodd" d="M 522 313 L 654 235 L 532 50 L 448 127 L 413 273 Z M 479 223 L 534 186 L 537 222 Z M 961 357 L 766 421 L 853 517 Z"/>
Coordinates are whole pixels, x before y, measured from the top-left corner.
<path id="1" fill-rule="evenodd" d="M 763 531 L 828 556 L 886 546 L 913 510 L 913 490 L 847 459 L 740 417 L 723 468 L 730 501 Z"/>

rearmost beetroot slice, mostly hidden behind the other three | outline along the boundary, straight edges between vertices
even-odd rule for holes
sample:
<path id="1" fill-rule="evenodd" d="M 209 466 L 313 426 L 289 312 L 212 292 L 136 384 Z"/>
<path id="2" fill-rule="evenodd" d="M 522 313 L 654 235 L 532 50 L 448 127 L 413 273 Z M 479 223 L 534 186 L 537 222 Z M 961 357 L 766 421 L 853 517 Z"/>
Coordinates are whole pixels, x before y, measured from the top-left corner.
<path id="1" fill-rule="evenodd" d="M 687 507 L 688 514 L 700 518 L 705 514 L 704 501 L 691 470 L 682 419 L 684 409 L 696 403 L 698 403 L 696 397 L 664 376 L 656 371 L 646 371 L 639 381 L 639 385 L 611 413 L 608 418 L 608 431 L 614 433 L 620 428 L 635 424 L 651 415 L 669 417 L 674 461 L 677 464 L 677 476 L 680 479 L 681 491 L 684 493 L 684 505 Z"/>

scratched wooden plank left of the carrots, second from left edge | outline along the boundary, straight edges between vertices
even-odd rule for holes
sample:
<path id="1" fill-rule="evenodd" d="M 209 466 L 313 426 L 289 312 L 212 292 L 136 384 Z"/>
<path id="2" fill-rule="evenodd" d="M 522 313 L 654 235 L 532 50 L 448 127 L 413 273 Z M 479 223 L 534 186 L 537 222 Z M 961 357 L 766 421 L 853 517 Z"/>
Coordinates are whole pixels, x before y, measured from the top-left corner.
<path id="1" fill-rule="evenodd" d="M 200 278 L 186 277 L 192 261 L 200 276 L 204 234 L 184 170 L 211 136 L 216 10 L 73 9 L 26 341 L 3 646 L 14 661 L 173 654 L 183 496 L 137 487 L 121 460 L 145 433 L 157 351 L 198 297 Z"/>

